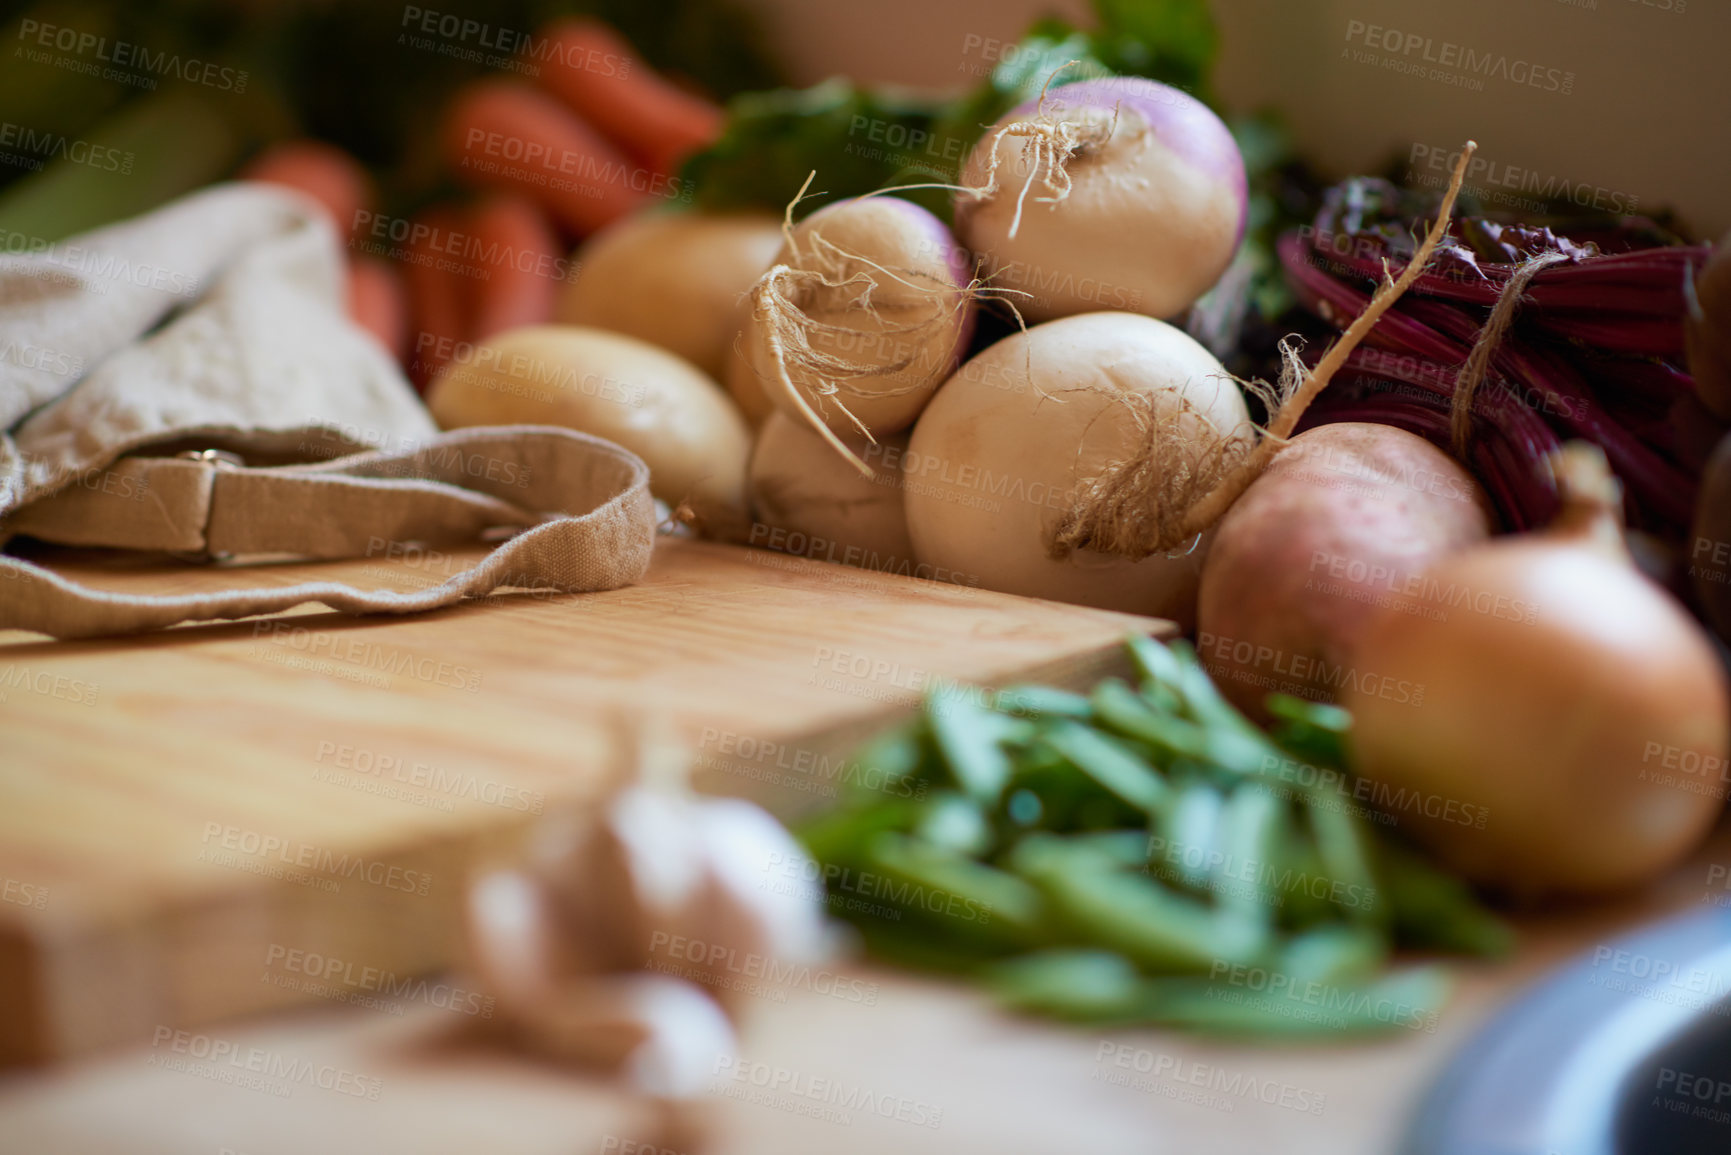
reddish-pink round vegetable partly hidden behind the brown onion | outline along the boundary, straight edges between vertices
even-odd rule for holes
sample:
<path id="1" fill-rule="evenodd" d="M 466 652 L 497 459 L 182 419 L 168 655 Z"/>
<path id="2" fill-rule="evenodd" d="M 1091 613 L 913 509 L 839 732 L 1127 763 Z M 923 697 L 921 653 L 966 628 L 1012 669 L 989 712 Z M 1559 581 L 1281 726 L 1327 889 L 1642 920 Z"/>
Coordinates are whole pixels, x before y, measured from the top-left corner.
<path id="1" fill-rule="evenodd" d="M 1215 532 L 1198 597 L 1203 665 L 1257 719 L 1274 691 L 1329 701 L 1355 677 L 1376 606 L 1489 535 L 1478 483 L 1425 438 L 1361 423 L 1302 433 Z"/>

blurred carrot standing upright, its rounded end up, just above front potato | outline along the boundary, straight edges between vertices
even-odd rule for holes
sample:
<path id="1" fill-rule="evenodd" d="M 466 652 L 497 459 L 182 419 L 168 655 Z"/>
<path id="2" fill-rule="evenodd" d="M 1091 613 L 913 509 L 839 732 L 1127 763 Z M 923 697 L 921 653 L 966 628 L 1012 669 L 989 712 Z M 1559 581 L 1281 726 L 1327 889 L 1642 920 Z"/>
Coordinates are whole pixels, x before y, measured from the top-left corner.
<path id="1" fill-rule="evenodd" d="M 550 320 L 564 246 L 540 208 L 511 192 L 493 196 L 474 210 L 469 234 L 478 267 L 471 339 Z"/>

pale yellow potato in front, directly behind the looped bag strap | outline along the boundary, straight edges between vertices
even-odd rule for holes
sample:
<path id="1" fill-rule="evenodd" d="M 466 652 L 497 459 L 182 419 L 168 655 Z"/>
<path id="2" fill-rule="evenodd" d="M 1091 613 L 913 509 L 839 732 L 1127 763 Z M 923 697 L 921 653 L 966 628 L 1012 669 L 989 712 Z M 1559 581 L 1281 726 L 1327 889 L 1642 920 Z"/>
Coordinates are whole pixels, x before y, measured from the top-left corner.
<path id="1" fill-rule="evenodd" d="M 428 390 L 445 429 L 552 424 L 616 442 L 649 466 L 649 490 L 689 500 L 710 528 L 746 521 L 751 431 L 691 362 L 576 326 L 528 326 L 476 345 Z"/>

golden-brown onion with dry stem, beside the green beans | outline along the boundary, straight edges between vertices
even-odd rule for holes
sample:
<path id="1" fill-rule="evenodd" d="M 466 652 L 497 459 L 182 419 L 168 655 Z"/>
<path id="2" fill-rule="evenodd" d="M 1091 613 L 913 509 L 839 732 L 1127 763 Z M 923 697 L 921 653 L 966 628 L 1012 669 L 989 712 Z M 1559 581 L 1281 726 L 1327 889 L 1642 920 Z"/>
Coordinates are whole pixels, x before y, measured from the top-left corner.
<path id="1" fill-rule="evenodd" d="M 1726 677 L 1632 565 L 1601 450 L 1556 459 L 1537 535 L 1464 549 L 1354 653 L 1357 771 L 1461 874 L 1522 895 L 1650 880 L 1707 833 L 1731 774 Z"/>

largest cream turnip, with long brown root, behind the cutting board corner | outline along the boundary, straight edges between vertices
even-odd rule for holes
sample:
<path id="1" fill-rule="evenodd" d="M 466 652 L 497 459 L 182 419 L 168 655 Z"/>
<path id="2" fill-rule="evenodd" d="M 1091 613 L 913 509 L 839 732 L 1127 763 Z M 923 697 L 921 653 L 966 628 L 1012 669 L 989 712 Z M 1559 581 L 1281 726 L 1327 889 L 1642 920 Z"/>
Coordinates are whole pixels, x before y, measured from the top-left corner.
<path id="1" fill-rule="evenodd" d="M 914 556 L 987 589 L 1187 622 L 1198 542 L 1115 558 L 1071 540 L 1075 513 L 1096 513 L 1096 539 L 1134 535 L 1182 513 L 1253 435 L 1220 362 L 1162 320 L 1033 326 L 962 365 L 914 426 L 904 461 Z"/>

